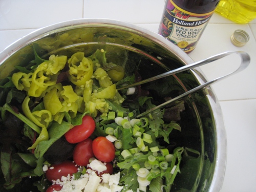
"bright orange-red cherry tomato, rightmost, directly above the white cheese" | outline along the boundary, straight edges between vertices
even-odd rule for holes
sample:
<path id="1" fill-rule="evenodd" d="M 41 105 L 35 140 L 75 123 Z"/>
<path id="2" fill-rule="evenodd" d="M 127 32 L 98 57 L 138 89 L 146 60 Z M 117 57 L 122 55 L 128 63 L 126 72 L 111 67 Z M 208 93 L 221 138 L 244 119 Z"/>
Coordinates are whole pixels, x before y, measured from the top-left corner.
<path id="1" fill-rule="evenodd" d="M 115 146 L 105 137 L 93 140 L 93 153 L 102 162 L 111 162 L 115 159 Z"/>

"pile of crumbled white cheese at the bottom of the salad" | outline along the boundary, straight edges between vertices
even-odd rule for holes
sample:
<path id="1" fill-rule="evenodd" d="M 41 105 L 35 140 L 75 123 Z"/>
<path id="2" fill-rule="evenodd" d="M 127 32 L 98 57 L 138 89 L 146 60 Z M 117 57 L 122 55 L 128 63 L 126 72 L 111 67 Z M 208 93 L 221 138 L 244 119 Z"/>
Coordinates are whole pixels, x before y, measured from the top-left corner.
<path id="1" fill-rule="evenodd" d="M 43 169 L 46 169 L 44 167 Z M 78 179 L 74 179 L 74 176 L 70 175 L 62 176 L 60 180 L 53 181 L 53 184 L 62 186 L 59 192 L 120 192 L 123 189 L 123 186 L 118 185 L 120 172 L 114 175 L 102 174 L 99 177 L 96 172 L 103 172 L 106 170 L 106 166 L 98 160 L 93 160 L 88 167 L 90 168 L 87 169 L 87 173 Z"/>

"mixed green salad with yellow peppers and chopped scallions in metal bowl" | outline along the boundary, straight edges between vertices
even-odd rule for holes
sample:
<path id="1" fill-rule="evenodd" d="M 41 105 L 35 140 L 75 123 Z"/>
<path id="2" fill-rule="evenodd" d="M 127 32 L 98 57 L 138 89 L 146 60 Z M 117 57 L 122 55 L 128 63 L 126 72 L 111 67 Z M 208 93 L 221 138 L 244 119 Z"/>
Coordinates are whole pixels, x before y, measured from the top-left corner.
<path id="1" fill-rule="evenodd" d="M 118 88 L 137 81 L 140 74 L 125 75 L 123 67 L 107 62 L 104 50 L 90 56 L 51 55 L 48 60 L 34 54 L 26 68 L 17 66 L 0 85 L 0 190 L 49 190 L 53 183 L 43 167 L 73 162 L 76 145 L 90 139 L 94 147 L 104 137 L 114 146 L 114 158 L 113 151 L 95 150 L 87 153 L 92 154 L 87 160 L 111 163 L 110 174 L 120 172 L 119 191 L 169 191 L 180 173 L 184 148 L 170 151 L 166 146 L 172 130 L 181 127 L 164 119 L 165 110 L 136 118 L 153 108 L 157 98 L 140 86 L 128 95 Z M 178 106 L 184 110 L 182 102 Z M 72 136 L 81 125 L 87 134 L 78 141 L 80 132 Z M 76 166 L 75 178 L 87 173 L 87 164 Z"/>

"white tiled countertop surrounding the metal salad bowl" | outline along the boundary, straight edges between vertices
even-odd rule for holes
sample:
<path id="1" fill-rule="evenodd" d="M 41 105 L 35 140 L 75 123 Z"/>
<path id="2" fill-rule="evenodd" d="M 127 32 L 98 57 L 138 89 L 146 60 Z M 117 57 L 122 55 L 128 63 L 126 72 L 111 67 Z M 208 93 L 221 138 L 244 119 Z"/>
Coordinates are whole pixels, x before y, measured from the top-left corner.
<path id="1" fill-rule="evenodd" d="M 163 8 L 164 0 L 1 0 L 0 52 L 40 27 L 77 18 L 117 19 L 157 32 Z M 242 48 L 230 42 L 231 34 L 237 29 L 245 30 L 250 36 Z M 220 101 L 227 133 L 227 165 L 221 192 L 256 191 L 255 38 L 256 19 L 239 25 L 214 14 L 196 49 L 189 54 L 194 61 L 225 51 L 245 51 L 251 57 L 247 69 L 212 86 Z M 212 79 L 235 70 L 239 63 L 237 56 L 231 55 L 201 69 Z"/>

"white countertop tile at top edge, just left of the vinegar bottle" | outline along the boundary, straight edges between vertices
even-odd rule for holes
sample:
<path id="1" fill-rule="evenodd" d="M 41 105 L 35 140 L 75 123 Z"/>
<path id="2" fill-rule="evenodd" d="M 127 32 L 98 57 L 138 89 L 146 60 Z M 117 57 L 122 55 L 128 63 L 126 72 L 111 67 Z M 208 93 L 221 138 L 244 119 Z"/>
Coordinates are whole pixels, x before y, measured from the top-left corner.
<path id="1" fill-rule="evenodd" d="M 111 18 L 130 23 L 160 23 L 164 1 L 84 0 L 84 18 Z"/>

